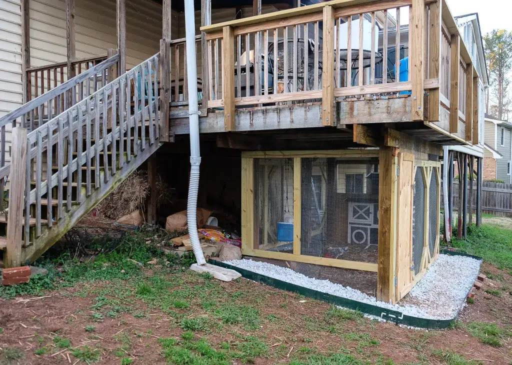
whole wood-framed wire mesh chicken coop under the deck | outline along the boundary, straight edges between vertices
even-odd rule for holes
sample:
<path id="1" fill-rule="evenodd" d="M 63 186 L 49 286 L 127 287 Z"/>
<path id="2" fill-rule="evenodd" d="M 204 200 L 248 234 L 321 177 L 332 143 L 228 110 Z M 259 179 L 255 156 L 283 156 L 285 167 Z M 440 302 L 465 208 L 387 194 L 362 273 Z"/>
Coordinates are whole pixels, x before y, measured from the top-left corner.
<path id="1" fill-rule="evenodd" d="M 242 153 L 242 253 L 402 298 L 439 252 L 440 163 L 385 152 Z"/>

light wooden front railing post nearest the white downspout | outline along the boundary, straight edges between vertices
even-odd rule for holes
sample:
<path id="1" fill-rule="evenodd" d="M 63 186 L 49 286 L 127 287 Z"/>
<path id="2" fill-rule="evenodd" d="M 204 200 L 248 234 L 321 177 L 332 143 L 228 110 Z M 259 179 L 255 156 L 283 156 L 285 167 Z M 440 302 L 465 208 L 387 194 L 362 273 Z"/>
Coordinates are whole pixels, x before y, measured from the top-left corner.
<path id="1" fill-rule="evenodd" d="M 222 29 L 222 90 L 224 94 L 224 130 L 234 131 L 234 30 Z"/>

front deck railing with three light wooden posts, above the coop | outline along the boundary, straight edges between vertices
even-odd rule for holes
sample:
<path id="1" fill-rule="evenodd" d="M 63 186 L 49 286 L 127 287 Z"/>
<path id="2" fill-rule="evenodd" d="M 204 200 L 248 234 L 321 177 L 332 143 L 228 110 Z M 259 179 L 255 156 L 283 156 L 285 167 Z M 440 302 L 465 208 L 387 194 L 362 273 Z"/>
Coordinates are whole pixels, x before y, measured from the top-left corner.
<path id="1" fill-rule="evenodd" d="M 232 130 L 234 109 L 241 105 L 322 100 L 322 122 L 333 125 L 335 98 L 399 92 L 412 94 L 411 118 L 423 120 L 425 0 L 353 4 L 335 0 L 202 27 L 208 107 L 224 107 L 226 129 Z M 400 36 L 400 25 L 407 23 L 409 39 Z M 397 34 L 394 44 L 388 42 L 391 33 Z M 404 44 L 407 79 L 400 76 L 396 51 Z M 388 67 L 392 52 L 395 66 Z M 426 83 L 438 87 L 439 80 Z"/>

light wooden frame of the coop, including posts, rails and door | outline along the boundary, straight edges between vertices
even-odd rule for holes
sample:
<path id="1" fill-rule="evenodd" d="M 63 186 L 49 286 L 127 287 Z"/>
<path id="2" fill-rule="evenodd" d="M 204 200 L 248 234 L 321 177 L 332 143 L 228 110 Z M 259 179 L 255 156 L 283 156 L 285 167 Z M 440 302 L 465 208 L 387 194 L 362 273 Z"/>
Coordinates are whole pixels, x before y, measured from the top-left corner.
<path id="1" fill-rule="evenodd" d="M 302 224 L 302 159 L 368 159 L 378 158 L 378 245 L 375 262 L 360 262 L 319 257 L 301 252 Z M 292 159 L 293 160 L 293 242 L 292 252 L 260 249 L 255 220 L 255 159 Z M 352 270 L 377 273 L 377 298 L 385 302 L 396 303 L 421 279 L 426 270 L 439 256 L 439 217 L 431 230 L 430 199 L 431 179 L 435 179 L 437 195 L 436 211 L 440 207 L 440 162 L 416 160 L 412 153 L 400 152 L 399 148 L 359 148 L 329 151 L 268 151 L 242 153 L 242 253 L 244 255 L 264 257 L 284 261 L 325 265 Z M 421 170 L 423 180 L 424 224 L 423 250 L 419 269 L 413 263 L 413 202 L 415 176 Z M 337 179 L 337 178 L 336 178 Z M 326 189 L 323 189 L 326 190 Z M 265 235 L 267 228 L 268 188 L 263 197 Z M 343 209 L 341 206 L 338 209 Z M 416 223 L 417 224 L 417 223 Z M 429 249 L 430 235 L 435 234 L 434 250 Z M 268 247 L 267 245 L 264 245 Z M 343 256 L 342 256 L 343 257 Z"/>

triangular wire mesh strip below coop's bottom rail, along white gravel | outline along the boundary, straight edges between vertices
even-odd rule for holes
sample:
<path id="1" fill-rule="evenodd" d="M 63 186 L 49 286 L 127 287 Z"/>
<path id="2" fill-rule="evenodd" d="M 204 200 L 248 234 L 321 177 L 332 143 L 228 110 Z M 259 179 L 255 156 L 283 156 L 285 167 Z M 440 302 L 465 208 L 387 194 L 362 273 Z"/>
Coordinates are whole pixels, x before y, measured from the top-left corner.
<path id="1" fill-rule="evenodd" d="M 371 296 L 377 295 L 377 273 L 362 270 L 343 269 L 325 265 L 305 264 L 295 261 L 266 259 L 244 256 L 246 259 L 286 267 L 305 276 L 357 289 Z"/>

